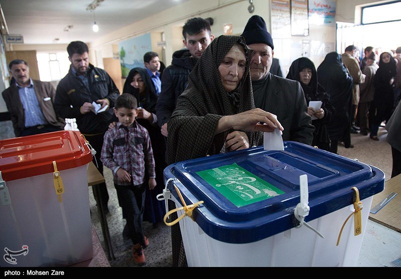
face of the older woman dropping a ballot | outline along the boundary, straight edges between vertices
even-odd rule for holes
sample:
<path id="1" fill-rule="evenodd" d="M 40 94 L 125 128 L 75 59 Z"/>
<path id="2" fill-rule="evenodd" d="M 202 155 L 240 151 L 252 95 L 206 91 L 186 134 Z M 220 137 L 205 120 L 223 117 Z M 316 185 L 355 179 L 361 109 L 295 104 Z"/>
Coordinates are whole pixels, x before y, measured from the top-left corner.
<path id="1" fill-rule="evenodd" d="M 244 76 L 246 62 L 244 48 L 235 44 L 219 66 L 224 89 L 231 92 L 237 88 Z"/>

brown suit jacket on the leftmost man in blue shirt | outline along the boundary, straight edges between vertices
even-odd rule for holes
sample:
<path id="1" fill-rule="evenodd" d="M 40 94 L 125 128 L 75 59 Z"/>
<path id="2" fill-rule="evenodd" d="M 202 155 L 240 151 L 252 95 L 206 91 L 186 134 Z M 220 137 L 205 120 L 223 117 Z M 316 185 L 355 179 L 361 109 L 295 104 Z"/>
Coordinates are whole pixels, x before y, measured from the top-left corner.
<path id="1" fill-rule="evenodd" d="M 53 85 L 50 82 L 42 82 L 39 80 L 33 80 L 33 83 L 39 106 L 47 122 L 53 126 L 64 129 L 64 119 L 58 117 L 54 111 L 53 102 L 56 96 L 56 90 Z M 11 114 L 14 133 L 17 137 L 21 136 L 22 130 L 25 129 L 24 106 L 18 91 L 19 88 L 13 84 L 2 93 L 7 109 Z M 45 100 L 48 97 L 50 97 L 50 100 Z"/>

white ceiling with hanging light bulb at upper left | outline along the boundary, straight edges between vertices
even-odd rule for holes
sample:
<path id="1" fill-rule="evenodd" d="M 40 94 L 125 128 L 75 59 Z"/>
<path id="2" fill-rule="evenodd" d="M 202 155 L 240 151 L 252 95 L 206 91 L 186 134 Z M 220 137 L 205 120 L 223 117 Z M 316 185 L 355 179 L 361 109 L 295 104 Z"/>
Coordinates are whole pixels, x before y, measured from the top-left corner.
<path id="1" fill-rule="evenodd" d="M 0 0 L 10 35 L 22 35 L 24 44 L 90 43 L 151 15 L 189 0 Z M 93 22 L 99 32 L 92 31 Z M 64 30 L 68 31 L 64 31 Z"/>

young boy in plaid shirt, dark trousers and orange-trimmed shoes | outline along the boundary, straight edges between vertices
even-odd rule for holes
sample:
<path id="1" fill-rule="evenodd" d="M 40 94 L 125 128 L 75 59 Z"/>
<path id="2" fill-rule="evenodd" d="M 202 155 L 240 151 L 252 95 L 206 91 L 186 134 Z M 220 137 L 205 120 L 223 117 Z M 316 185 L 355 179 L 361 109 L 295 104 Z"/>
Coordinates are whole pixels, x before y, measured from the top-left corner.
<path id="1" fill-rule="evenodd" d="M 143 248 L 149 244 L 142 226 L 145 170 L 149 189 L 156 186 L 153 151 L 147 130 L 135 121 L 137 102 L 134 96 L 120 95 L 114 114 L 118 123 L 104 135 L 101 160 L 113 171 L 114 187 L 133 243 L 133 258 L 142 265 L 146 262 Z"/>

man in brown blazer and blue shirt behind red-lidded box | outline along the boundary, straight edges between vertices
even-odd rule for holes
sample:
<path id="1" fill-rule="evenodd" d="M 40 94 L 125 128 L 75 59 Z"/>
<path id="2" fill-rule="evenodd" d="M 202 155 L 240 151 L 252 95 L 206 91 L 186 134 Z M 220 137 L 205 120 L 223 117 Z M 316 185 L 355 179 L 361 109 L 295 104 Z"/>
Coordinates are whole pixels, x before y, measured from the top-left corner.
<path id="1" fill-rule="evenodd" d="M 56 115 L 53 107 L 56 95 L 53 85 L 31 79 L 28 63 L 24 60 L 13 60 L 9 68 L 16 82 L 2 95 L 11 114 L 15 135 L 22 137 L 63 130 L 64 119 Z"/>

